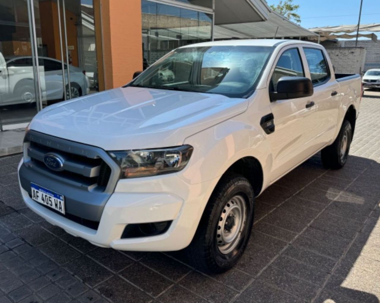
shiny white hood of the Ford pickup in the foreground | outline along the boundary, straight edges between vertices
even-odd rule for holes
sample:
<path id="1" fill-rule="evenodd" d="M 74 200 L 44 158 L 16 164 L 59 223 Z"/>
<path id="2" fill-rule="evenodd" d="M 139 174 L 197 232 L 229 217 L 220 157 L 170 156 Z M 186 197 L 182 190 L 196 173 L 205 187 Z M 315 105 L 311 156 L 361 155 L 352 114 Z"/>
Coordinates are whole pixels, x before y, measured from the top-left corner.
<path id="1" fill-rule="evenodd" d="M 247 106 L 223 95 L 124 87 L 48 106 L 29 127 L 105 150 L 170 147 Z"/>

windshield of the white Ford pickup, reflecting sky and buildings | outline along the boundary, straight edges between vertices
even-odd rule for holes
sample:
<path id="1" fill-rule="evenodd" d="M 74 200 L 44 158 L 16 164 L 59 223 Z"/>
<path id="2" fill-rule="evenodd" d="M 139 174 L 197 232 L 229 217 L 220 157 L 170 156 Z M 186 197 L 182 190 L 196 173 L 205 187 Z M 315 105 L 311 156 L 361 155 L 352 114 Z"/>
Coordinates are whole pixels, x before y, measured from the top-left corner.
<path id="1" fill-rule="evenodd" d="M 273 47 L 184 47 L 170 52 L 130 86 L 247 98 L 260 80 Z"/>

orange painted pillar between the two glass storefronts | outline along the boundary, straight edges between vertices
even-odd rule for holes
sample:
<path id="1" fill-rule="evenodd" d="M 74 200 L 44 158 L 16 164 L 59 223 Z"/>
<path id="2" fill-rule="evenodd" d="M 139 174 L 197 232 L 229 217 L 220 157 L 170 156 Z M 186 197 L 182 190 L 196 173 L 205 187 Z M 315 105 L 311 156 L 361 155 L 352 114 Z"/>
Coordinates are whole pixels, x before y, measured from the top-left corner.
<path id="1" fill-rule="evenodd" d="M 141 0 L 102 0 L 105 88 L 119 87 L 142 70 Z"/>

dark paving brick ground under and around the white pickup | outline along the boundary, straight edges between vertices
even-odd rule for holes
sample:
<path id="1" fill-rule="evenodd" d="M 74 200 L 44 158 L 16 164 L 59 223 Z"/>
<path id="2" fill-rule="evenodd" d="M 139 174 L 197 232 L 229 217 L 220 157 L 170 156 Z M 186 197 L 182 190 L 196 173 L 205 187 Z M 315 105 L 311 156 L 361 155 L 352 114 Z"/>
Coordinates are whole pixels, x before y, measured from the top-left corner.
<path id="1" fill-rule="evenodd" d="M 223 275 L 67 234 L 25 208 L 21 156 L 0 158 L 0 303 L 379 302 L 379 117 L 380 93 L 366 92 L 344 169 L 317 155 L 257 199 L 248 248 Z"/>

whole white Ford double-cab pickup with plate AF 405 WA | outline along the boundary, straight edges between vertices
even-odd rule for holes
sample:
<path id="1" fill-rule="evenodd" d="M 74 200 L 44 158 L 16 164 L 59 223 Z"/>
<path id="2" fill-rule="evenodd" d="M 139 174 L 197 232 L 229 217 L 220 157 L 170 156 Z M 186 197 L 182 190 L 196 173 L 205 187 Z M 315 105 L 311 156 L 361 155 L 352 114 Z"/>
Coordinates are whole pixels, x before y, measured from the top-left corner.
<path id="1" fill-rule="evenodd" d="M 131 251 L 186 248 L 223 272 L 250 237 L 255 197 L 321 151 L 347 161 L 359 75 L 295 40 L 173 50 L 124 87 L 46 107 L 27 128 L 25 203 L 68 233 Z"/>

